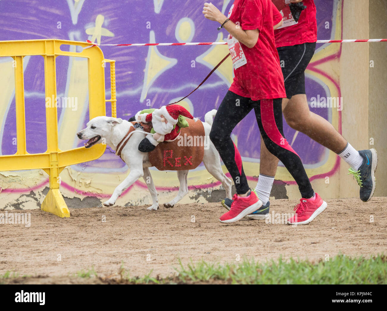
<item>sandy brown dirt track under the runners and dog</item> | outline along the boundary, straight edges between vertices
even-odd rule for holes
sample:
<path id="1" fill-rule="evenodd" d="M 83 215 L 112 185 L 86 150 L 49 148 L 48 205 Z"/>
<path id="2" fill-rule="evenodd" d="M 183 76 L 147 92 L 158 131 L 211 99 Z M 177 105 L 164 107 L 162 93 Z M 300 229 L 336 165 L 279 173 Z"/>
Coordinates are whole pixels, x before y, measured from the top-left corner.
<path id="1" fill-rule="evenodd" d="M 270 213 L 291 213 L 296 203 L 273 200 Z M 319 260 L 339 252 L 387 253 L 387 198 L 327 203 L 312 223 L 296 227 L 264 220 L 224 225 L 218 218 L 226 210 L 219 203 L 161 206 L 158 211 L 146 206 L 79 208 L 70 209 L 71 218 L 30 210 L 30 227 L 0 225 L 0 275 L 68 276 L 94 266 L 98 275 L 114 277 L 123 262 L 131 276 L 153 270 L 154 276 L 168 277 L 178 258 L 184 264 L 190 259 L 235 263 L 244 256 Z"/>

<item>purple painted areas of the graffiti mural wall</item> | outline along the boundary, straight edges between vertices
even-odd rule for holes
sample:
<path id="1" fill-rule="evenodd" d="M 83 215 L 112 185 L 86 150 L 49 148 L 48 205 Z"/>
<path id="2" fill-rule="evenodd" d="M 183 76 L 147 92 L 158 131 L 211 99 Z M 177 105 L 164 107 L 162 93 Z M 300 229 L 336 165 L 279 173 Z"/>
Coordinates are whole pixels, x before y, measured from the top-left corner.
<path id="1" fill-rule="evenodd" d="M 82 8 L 76 14 L 80 3 Z M 159 13 L 155 12 L 155 3 L 162 3 Z M 232 1 L 215 0 L 217 7 L 221 8 L 227 3 L 225 12 L 229 10 Z M 330 39 L 332 27 L 325 29 L 325 22 L 332 25 L 333 16 L 336 15 L 337 4 L 334 0 L 315 0 L 318 15 L 318 38 Z M 74 8 L 74 4 L 78 7 Z M 156 9 L 157 10 L 157 9 Z M 101 27 L 111 32 L 114 36 L 102 36 L 101 43 L 148 43 L 150 32 L 154 31 L 156 42 L 176 42 L 175 29 L 183 17 L 190 18 L 195 27 L 192 42 L 215 41 L 218 35 L 216 23 L 208 21 L 202 15 L 202 4 L 194 0 L 187 1 L 117 1 L 111 0 L 79 0 L 67 1 L 25 1 L 13 0 L 0 1 L 0 40 L 26 40 L 57 38 L 65 40 L 86 41 L 91 35 L 86 29 L 94 27 L 97 15 L 103 15 Z M 60 28 L 58 28 L 60 22 Z M 150 29 L 147 28 L 150 22 Z M 227 36 L 223 31 L 223 37 Z M 318 45 L 319 47 L 319 45 Z M 146 101 L 140 102 L 140 95 L 144 84 L 144 68 L 148 53 L 147 47 L 103 46 L 101 47 L 105 58 L 116 60 L 116 87 L 117 87 L 117 116 L 128 118 L 137 111 L 147 108 Z M 150 87 L 147 99 L 151 100 L 153 107 L 160 107 L 169 103 L 176 97 L 187 95 L 210 69 L 196 62 L 195 68 L 191 61 L 208 50 L 208 46 L 165 46 L 158 47 L 158 51 L 165 57 L 176 58 L 177 64 L 166 70 Z M 222 55 L 223 57 L 223 55 Z M 58 96 L 63 95 L 67 83 L 68 60 L 65 57 L 57 61 Z M 230 68 L 231 70 L 231 68 Z M 30 153 L 43 152 L 46 149 L 45 107 L 44 107 L 44 64 L 42 57 L 33 57 L 25 69 L 26 90 L 26 127 L 27 151 Z M 106 93 L 110 92 L 109 70 L 106 68 Z M 323 86 L 307 77 L 307 94 L 311 96 L 325 95 Z M 219 106 L 228 86 L 216 74 L 213 74 L 202 88 L 199 88 L 189 99 L 194 106 L 195 117 L 204 117 L 204 114 Z M 109 97 L 107 95 L 106 97 Z M 312 108 L 313 112 L 329 119 L 329 110 Z M 62 111 L 58 110 L 58 118 Z M 107 115 L 110 109 L 107 106 Z M 85 119 L 86 123 L 88 120 Z M 78 125 L 74 125 L 78 126 Z M 16 146 L 10 144 L 12 137 L 16 137 L 15 128 L 15 103 L 10 106 L 2 136 L 1 151 L 3 155 L 13 154 Z M 243 157 L 259 158 L 259 129 L 253 113 L 250 113 L 234 130 L 238 136 L 238 149 Z M 284 125 L 284 134 L 288 141 L 295 134 L 293 129 Z M 245 139 L 249 137 L 249 139 Z M 256 137 L 256 139 L 255 139 Z M 78 143 L 78 142 L 77 142 Z M 82 142 L 79 141 L 78 146 Z M 325 148 L 312 142 L 304 134 L 298 134 L 293 148 L 301 156 L 306 165 L 320 163 Z M 106 152 L 109 152 L 108 150 Z M 106 161 L 108 167 L 123 167 L 121 160 L 99 160 L 85 163 L 87 167 L 101 167 Z M 104 165 L 104 164 L 102 164 Z"/>

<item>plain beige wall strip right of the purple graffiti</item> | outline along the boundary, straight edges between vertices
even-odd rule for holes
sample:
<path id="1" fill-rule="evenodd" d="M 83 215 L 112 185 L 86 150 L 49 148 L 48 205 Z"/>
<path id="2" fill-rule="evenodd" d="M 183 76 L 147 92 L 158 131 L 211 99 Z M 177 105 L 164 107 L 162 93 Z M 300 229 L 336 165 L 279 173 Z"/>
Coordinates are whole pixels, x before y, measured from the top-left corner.
<path id="1" fill-rule="evenodd" d="M 343 39 L 368 38 L 368 0 L 343 2 Z M 342 136 L 358 150 L 368 147 L 368 45 L 344 43 L 340 57 L 340 87 L 343 97 Z M 339 197 L 350 198 L 359 186 L 348 174 L 348 165 L 340 163 Z"/>

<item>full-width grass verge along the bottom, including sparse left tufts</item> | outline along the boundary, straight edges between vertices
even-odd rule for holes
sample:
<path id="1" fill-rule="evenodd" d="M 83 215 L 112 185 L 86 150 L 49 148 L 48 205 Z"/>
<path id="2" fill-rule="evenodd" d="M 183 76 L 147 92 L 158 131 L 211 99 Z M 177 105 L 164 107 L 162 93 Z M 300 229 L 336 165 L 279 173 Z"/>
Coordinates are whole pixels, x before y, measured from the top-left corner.
<path id="1" fill-rule="evenodd" d="M 384 254 L 370 258 L 351 258 L 339 254 L 329 261 L 319 262 L 292 258 L 283 260 L 280 257 L 265 263 L 245 258 L 231 264 L 191 261 L 184 265 L 179 260 L 179 266 L 175 268 L 176 276 L 168 278 L 151 277 L 153 271 L 144 277 L 131 277 L 122 263 L 118 277 L 99 277 L 92 267 L 78 271 L 72 278 L 81 280 L 80 283 L 95 278 L 104 284 L 387 284 L 386 261 Z M 0 284 L 10 283 L 17 278 L 21 278 L 19 274 L 7 271 L 0 275 Z M 44 278 L 39 283 L 44 284 Z"/>

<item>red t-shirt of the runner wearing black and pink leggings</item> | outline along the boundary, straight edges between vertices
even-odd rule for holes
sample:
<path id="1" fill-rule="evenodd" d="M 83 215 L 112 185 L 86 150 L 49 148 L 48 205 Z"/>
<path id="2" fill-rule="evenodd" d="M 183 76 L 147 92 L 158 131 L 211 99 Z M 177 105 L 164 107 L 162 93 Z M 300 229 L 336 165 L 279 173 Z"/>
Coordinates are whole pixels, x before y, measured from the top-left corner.
<path id="1" fill-rule="evenodd" d="M 240 43 L 247 64 L 234 70 L 229 91 L 252 100 L 286 97 L 284 77 L 274 43 L 271 0 L 235 0 L 229 19 L 243 30 L 259 30 L 257 44 L 248 48 Z"/>

